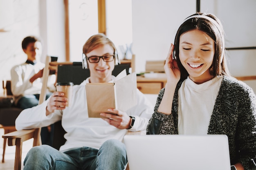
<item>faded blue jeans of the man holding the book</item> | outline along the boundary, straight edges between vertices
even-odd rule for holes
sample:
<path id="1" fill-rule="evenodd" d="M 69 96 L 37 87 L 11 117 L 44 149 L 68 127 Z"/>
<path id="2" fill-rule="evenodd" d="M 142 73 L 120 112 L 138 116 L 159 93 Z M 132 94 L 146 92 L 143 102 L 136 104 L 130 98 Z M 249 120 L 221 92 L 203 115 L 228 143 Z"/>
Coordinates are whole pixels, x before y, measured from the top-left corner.
<path id="1" fill-rule="evenodd" d="M 126 147 L 109 139 L 98 149 L 82 147 L 60 152 L 51 146 L 35 146 L 24 160 L 23 170 L 124 170 Z"/>

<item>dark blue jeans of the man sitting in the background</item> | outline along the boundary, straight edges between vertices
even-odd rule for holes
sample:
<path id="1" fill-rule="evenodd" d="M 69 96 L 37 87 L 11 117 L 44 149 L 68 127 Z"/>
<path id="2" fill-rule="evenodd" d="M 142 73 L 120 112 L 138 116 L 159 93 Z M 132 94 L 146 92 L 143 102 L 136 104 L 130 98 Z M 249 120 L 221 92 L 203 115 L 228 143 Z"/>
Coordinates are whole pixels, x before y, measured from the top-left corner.
<path id="1" fill-rule="evenodd" d="M 47 93 L 45 99 L 49 98 L 52 95 L 52 93 Z M 31 94 L 31 95 L 25 95 L 17 103 L 17 107 L 21 109 L 27 109 L 34 106 L 37 106 L 39 102 L 39 94 Z M 52 146 L 53 142 L 53 130 L 54 130 L 54 124 L 51 124 L 51 131 L 48 131 L 47 127 L 41 128 L 41 139 L 42 144 L 47 144 Z"/>

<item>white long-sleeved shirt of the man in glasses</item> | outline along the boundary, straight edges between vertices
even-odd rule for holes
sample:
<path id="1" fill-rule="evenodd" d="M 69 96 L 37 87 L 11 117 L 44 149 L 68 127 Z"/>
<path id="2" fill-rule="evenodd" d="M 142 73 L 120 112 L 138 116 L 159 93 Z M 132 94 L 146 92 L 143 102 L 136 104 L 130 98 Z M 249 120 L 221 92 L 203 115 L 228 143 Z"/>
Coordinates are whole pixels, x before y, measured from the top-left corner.
<path id="1" fill-rule="evenodd" d="M 87 78 L 81 85 L 74 85 L 72 95 L 72 106 L 63 111 L 56 110 L 46 116 L 48 100 L 41 105 L 23 110 L 16 119 L 16 129 L 31 129 L 48 126 L 62 119 L 62 126 L 67 132 L 66 143 L 60 150 L 67 150 L 76 147 L 92 147 L 99 149 L 107 139 L 123 140 L 126 129 L 117 129 L 115 126 L 101 118 L 88 118 L 87 100 L 85 95 L 85 84 L 89 83 Z M 134 126 L 130 131 L 145 130 L 149 118 L 153 113 L 153 106 L 144 94 L 137 89 L 137 105 L 126 113 L 135 117 Z"/>

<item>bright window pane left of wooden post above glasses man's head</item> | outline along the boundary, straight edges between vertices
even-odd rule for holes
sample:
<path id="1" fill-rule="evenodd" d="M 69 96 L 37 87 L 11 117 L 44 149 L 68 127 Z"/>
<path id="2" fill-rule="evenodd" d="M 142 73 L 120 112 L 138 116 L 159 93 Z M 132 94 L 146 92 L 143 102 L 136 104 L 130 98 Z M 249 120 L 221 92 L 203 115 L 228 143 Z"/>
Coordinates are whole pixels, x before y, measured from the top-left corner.
<path id="1" fill-rule="evenodd" d="M 70 61 L 82 61 L 83 44 L 98 33 L 97 0 L 70 0 Z"/>

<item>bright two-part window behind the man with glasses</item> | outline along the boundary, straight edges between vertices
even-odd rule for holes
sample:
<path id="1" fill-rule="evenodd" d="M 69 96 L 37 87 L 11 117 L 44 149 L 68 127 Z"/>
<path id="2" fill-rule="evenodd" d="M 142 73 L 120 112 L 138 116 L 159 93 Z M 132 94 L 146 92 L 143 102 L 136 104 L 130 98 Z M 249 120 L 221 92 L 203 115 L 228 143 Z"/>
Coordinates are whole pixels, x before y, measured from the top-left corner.
<path id="1" fill-rule="evenodd" d="M 70 0 L 70 61 L 82 60 L 85 41 L 98 33 L 97 0 Z M 126 44 L 132 44 L 132 0 L 106 0 L 106 35 L 123 59 Z"/>

